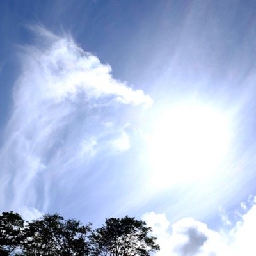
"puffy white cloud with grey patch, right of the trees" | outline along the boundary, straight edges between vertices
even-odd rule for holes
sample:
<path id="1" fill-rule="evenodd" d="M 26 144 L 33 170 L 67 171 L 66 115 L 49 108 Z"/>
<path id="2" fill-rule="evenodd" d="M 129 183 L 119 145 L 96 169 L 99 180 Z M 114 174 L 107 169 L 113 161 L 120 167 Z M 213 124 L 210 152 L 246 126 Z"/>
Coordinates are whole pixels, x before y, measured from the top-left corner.
<path id="1" fill-rule="evenodd" d="M 205 223 L 193 218 L 177 221 L 169 229 L 170 222 L 164 214 L 154 212 L 143 215 L 152 227 L 161 251 L 157 256 L 241 256 L 255 255 L 256 205 L 230 229 L 211 230 Z"/>

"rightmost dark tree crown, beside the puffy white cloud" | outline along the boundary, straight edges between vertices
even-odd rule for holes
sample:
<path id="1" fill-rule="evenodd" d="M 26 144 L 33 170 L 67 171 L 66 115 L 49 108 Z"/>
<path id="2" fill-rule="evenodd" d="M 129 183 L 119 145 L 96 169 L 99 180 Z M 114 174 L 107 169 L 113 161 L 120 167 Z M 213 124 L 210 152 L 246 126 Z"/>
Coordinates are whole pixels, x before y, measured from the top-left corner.
<path id="1" fill-rule="evenodd" d="M 160 250 L 156 237 L 148 236 L 151 228 L 144 221 L 124 218 L 106 219 L 90 237 L 92 255 L 100 256 L 148 256 Z"/>

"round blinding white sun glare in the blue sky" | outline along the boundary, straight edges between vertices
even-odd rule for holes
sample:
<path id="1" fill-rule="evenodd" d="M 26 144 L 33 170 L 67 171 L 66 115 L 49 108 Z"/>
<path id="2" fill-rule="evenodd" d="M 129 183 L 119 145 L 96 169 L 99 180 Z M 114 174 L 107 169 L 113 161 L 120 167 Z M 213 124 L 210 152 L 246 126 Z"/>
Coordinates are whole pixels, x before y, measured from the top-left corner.
<path id="1" fill-rule="evenodd" d="M 228 118 L 207 106 L 162 111 L 149 138 L 152 180 L 159 186 L 211 178 L 230 140 Z"/>

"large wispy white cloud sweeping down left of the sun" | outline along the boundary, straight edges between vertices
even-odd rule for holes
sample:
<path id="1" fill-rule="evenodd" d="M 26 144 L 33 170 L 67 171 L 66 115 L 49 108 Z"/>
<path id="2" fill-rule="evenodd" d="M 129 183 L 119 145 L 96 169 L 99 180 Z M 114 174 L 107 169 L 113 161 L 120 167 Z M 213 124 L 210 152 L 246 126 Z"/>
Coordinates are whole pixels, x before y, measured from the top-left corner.
<path id="1" fill-rule="evenodd" d="M 0 195 L 3 209 L 47 211 L 52 187 L 79 179 L 77 172 L 86 172 L 99 152 L 129 149 L 129 120 L 119 115 L 129 105 L 150 106 L 152 99 L 114 79 L 108 64 L 70 36 L 33 29 L 40 40 L 22 48 L 22 72 L 0 148 Z"/>

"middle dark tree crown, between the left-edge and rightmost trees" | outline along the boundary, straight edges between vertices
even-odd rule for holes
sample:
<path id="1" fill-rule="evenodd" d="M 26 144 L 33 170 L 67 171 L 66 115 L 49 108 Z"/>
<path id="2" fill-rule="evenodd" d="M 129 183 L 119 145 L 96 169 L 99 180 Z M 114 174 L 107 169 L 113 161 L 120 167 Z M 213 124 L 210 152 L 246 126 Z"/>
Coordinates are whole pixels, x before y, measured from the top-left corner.
<path id="1" fill-rule="evenodd" d="M 90 225 L 77 220 L 63 220 L 58 214 L 46 214 L 28 223 L 24 234 L 25 255 L 80 256 L 89 254 L 87 243 Z"/>

